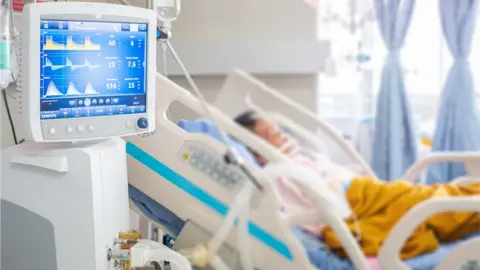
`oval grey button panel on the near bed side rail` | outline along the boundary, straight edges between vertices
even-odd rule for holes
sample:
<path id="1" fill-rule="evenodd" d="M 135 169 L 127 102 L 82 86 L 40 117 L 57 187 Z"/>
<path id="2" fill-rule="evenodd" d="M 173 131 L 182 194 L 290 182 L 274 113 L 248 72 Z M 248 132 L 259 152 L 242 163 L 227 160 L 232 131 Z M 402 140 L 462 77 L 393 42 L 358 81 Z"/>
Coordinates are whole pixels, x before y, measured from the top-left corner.
<path id="1" fill-rule="evenodd" d="M 227 189 L 236 189 L 245 176 L 236 167 L 229 166 L 217 155 L 203 149 L 194 142 L 185 144 L 180 150 L 180 158 L 193 168 L 210 176 Z"/>

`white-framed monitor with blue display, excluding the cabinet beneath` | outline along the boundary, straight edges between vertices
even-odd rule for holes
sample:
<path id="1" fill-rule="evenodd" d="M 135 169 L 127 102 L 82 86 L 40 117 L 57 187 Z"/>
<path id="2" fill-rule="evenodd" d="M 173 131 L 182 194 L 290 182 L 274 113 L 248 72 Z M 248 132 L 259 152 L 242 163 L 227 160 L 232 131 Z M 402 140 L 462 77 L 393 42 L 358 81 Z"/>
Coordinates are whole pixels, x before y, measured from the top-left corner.
<path id="1" fill-rule="evenodd" d="M 27 139 L 71 141 L 153 131 L 155 92 L 147 89 L 154 89 L 156 71 L 156 24 L 149 21 L 156 20 L 154 13 L 70 5 L 24 11 L 20 90 Z"/>

